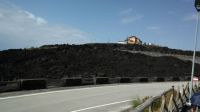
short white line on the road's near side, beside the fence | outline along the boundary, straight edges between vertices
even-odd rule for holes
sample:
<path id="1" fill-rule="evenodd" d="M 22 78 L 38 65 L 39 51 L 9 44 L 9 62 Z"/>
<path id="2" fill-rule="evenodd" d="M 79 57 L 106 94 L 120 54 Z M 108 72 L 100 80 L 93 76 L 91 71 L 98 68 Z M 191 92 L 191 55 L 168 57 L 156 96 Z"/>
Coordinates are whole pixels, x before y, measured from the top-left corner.
<path id="1" fill-rule="evenodd" d="M 74 111 L 71 111 L 71 112 L 80 112 L 80 111 L 90 110 L 90 109 L 94 109 L 94 108 L 100 108 L 100 107 L 105 107 L 105 106 L 109 106 L 109 105 L 115 105 L 115 104 L 130 102 L 130 101 L 132 101 L 132 100 L 124 100 L 124 101 L 119 101 L 119 102 L 113 102 L 113 103 L 108 103 L 108 104 L 88 107 L 88 108 L 84 108 L 84 109 L 74 110 Z"/>

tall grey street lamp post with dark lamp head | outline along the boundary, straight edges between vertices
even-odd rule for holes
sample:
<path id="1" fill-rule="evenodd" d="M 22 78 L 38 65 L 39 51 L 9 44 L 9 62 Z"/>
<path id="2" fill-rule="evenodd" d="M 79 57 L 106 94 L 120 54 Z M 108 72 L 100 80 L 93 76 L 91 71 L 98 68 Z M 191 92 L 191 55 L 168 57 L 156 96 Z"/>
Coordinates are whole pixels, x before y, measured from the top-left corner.
<path id="1" fill-rule="evenodd" d="M 195 57 L 196 57 L 197 37 L 198 37 L 198 28 L 199 28 L 199 15 L 200 15 L 200 0 L 195 0 L 194 6 L 197 10 L 197 24 L 196 24 L 196 31 L 195 31 L 195 37 L 194 37 L 194 51 L 193 51 L 193 59 L 192 59 L 192 73 L 191 73 L 190 96 L 189 96 L 190 99 L 192 97 L 193 77 L 194 77 L 194 68 L 195 68 Z M 191 103 L 191 101 L 190 101 L 190 103 Z"/>

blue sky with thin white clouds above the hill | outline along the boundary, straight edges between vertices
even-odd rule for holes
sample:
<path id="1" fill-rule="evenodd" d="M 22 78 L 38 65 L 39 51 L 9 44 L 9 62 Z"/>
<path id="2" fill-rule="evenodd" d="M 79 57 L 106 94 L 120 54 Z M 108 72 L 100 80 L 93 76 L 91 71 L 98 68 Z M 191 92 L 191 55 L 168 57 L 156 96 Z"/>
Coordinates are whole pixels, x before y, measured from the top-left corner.
<path id="1" fill-rule="evenodd" d="M 128 36 L 192 50 L 196 15 L 194 0 L 0 0 L 0 50 Z"/>

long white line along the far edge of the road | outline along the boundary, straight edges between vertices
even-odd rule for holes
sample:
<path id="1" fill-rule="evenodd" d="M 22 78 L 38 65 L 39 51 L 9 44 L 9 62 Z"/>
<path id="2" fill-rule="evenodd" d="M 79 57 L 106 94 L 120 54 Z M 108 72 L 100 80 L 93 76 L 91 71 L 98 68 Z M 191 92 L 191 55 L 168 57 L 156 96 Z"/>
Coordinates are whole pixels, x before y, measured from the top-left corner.
<path id="1" fill-rule="evenodd" d="M 18 95 L 18 96 L 0 97 L 0 100 L 29 97 L 29 96 L 37 96 L 37 95 L 45 95 L 45 94 L 53 94 L 53 93 L 70 92 L 70 91 L 78 91 L 78 90 L 88 90 L 88 89 L 93 89 L 93 88 L 116 87 L 116 86 L 131 86 L 131 85 L 130 84 L 127 84 L 127 85 L 112 85 L 112 86 L 87 87 L 87 88 L 78 88 L 78 89 L 70 89 L 70 90 L 49 91 L 49 92 L 32 93 L 32 94 L 25 94 L 25 95 Z"/>

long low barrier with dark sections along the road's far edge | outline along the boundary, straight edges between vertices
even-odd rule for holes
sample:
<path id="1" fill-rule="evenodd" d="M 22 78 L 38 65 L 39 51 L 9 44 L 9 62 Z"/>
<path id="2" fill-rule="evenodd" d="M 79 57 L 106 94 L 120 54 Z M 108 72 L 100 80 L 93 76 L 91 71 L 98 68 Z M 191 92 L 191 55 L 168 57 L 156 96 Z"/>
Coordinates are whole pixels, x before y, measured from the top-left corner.
<path id="1" fill-rule="evenodd" d="M 181 79 L 181 80 L 177 80 Z M 0 81 L 0 92 L 26 89 L 44 89 L 63 86 L 82 86 L 95 84 L 186 81 L 188 77 L 69 77 L 63 79 L 20 79 Z"/>

